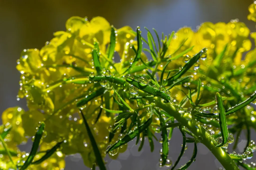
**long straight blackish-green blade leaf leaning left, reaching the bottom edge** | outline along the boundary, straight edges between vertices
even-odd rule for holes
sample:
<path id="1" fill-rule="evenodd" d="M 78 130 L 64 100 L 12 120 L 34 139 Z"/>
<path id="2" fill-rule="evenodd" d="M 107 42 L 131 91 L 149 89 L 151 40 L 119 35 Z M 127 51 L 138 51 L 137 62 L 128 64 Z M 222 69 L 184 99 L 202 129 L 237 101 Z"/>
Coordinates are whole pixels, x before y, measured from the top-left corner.
<path id="1" fill-rule="evenodd" d="M 102 157 L 101 157 L 100 150 L 99 150 L 99 148 L 97 146 L 97 143 L 96 143 L 96 141 L 95 141 L 95 139 L 93 137 L 91 129 L 90 129 L 90 127 L 89 127 L 89 125 L 88 125 L 88 123 L 87 123 L 87 121 L 86 121 L 86 119 L 85 119 L 81 109 L 80 109 L 80 112 L 81 112 L 81 115 L 82 115 L 82 118 L 83 118 L 84 125 L 85 125 L 86 130 L 87 130 L 88 136 L 89 136 L 90 141 L 91 141 L 91 146 L 92 146 L 95 158 L 96 158 L 96 162 L 97 162 L 100 170 L 106 170 L 105 164 L 104 164 L 104 162 L 102 160 Z"/>

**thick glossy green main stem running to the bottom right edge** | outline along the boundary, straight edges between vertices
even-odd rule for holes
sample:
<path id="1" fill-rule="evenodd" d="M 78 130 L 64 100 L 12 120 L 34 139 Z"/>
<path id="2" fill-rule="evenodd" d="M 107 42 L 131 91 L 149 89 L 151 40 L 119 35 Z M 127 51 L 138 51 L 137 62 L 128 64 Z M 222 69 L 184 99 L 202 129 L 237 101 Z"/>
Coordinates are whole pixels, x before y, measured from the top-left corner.
<path id="1" fill-rule="evenodd" d="M 156 106 L 163 109 L 165 112 L 169 113 L 173 116 L 182 126 L 187 127 L 193 134 L 195 134 L 199 141 L 203 143 L 218 159 L 218 161 L 222 164 L 222 166 L 226 170 L 239 170 L 235 162 L 230 158 L 229 154 L 225 152 L 222 148 L 217 148 L 212 141 L 212 137 L 210 134 L 206 132 L 206 130 L 199 126 L 199 124 L 194 121 L 188 121 L 182 114 L 180 114 L 174 106 L 170 103 L 163 103 L 161 99 L 149 98 L 150 102 L 155 102 Z M 155 100 L 155 101 L 154 101 Z"/>

